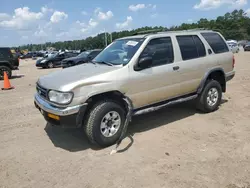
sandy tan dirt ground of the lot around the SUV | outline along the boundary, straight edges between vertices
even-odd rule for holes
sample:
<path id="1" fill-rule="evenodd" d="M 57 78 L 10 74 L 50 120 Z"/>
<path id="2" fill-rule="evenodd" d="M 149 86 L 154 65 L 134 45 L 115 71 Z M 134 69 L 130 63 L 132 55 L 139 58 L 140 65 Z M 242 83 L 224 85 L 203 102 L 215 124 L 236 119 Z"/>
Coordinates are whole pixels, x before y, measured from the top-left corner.
<path id="1" fill-rule="evenodd" d="M 22 61 L 15 89 L 0 90 L 1 188 L 250 187 L 250 53 L 236 54 L 218 111 L 188 102 L 135 117 L 114 155 L 91 148 L 81 130 L 46 125 L 35 109 L 35 82 L 58 70 Z"/>

